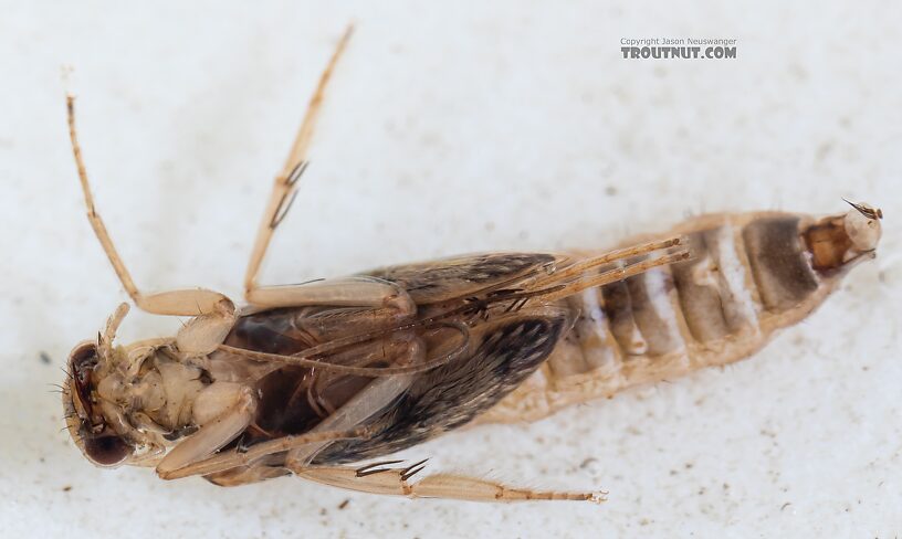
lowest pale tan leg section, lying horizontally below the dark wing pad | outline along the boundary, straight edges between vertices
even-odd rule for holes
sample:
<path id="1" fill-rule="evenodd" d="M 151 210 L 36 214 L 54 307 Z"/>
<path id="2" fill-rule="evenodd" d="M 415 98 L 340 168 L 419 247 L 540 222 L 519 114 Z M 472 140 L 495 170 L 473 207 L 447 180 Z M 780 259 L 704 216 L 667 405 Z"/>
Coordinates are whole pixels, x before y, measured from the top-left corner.
<path id="1" fill-rule="evenodd" d="M 385 463 L 395 464 L 397 461 Z M 531 501 L 580 500 L 599 504 L 607 493 L 559 493 L 513 488 L 501 483 L 464 475 L 437 474 L 409 483 L 420 472 L 423 463 L 407 468 L 381 468 L 378 465 L 363 468 L 301 467 L 292 469 L 298 477 L 361 493 L 407 496 L 409 498 L 445 498 L 468 501 Z"/>

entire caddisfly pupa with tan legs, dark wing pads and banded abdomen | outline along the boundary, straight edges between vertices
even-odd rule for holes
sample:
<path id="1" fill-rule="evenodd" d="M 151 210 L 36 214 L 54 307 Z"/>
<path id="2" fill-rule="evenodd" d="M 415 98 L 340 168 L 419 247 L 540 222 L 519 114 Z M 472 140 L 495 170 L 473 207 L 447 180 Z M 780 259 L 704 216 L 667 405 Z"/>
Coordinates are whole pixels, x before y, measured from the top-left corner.
<path id="1" fill-rule="evenodd" d="M 294 474 L 375 494 L 598 501 L 592 492 L 536 492 L 373 459 L 474 420 L 536 419 L 745 357 L 875 249 L 880 213 L 853 204 L 821 220 L 707 216 L 609 252 L 489 253 L 259 286 L 348 39 L 276 177 L 243 308 L 203 288 L 145 294 L 133 282 L 95 208 L 69 98 L 88 220 L 123 287 L 144 311 L 191 317 L 175 337 L 117 346 L 123 304 L 96 340 L 70 355 L 66 423 L 95 464 L 218 485 Z"/>

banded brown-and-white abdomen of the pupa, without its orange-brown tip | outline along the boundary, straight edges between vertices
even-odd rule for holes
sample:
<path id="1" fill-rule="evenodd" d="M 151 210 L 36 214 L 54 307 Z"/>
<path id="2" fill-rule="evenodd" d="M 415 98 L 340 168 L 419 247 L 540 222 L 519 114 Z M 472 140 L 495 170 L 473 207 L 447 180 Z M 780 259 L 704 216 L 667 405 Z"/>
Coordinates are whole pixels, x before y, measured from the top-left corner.
<path id="1" fill-rule="evenodd" d="M 688 237 L 691 260 L 568 298 L 573 329 L 480 422 L 533 421 L 749 356 L 807 316 L 838 281 L 811 267 L 801 240 L 811 222 L 767 212 L 705 215 L 676 228 L 668 235 Z"/>

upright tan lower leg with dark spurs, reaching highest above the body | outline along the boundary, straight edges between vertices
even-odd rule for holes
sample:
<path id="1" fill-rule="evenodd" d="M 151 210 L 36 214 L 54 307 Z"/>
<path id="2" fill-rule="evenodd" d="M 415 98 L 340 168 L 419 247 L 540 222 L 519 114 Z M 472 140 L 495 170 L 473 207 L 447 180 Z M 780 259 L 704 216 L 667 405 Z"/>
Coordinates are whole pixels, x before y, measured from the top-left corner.
<path id="1" fill-rule="evenodd" d="M 250 297 L 251 292 L 256 288 L 256 274 L 260 272 L 260 265 L 266 254 L 266 247 L 270 245 L 273 232 L 275 232 L 275 228 L 279 226 L 291 202 L 294 200 L 297 180 L 301 179 L 301 175 L 304 172 L 304 169 L 306 169 L 307 148 L 310 147 L 313 128 L 323 104 L 326 85 L 329 78 L 332 78 L 332 73 L 335 70 L 338 59 L 345 51 L 348 40 L 350 40 L 353 30 L 354 27 L 352 25 L 348 25 L 347 30 L 345 30 L 325 71 L 323 71 L 323 74 L 319 76 L 319 83 L 307 105 L 307 112 L 304 115 L 304 120 L 301 123 L 301 128 L 294 139 L 294 145 L 289 152 L 285 168 L 283 168 L 282 172 L 275 178 L 270 201 L 266 204 L 266 211 L 263 213 L 263 221 L 260 223 L 260 230 L 256 233 L 253 251 L 251 251 L 251 260 L 248 262 L 248 270 L 244 274 L 244 293 L 248 303 L 253 303 Z"/>

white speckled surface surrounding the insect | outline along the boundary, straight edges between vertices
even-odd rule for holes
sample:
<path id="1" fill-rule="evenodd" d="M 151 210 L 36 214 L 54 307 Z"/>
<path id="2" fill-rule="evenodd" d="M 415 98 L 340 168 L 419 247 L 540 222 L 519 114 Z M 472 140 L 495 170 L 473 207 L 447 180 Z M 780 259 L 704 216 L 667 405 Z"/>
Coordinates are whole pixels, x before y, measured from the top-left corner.
<path id="1" fill-rule="evenodd" d="M 902 531 L 896 3 L 179 3 L 0 2 L 3 536 Z M 84 219 L 64 91 L 80 97 L 97 203 L 139 286 L 238 297 L 271 178 L 350 20 L 264 282 L 602 247 L 688 213 L 836 212 L 840 197 L 883 207 L 880 257 L 753 360 L 407 453 L 433 471 L 607 488 L 600 507 L 409 501 L 292 478 L 221 489 L 92 467 L 59 431 L 48 384 L 125 295 Z M 643 36 L 735 38 L 738 59 L 622 60 L 620 38 Z M 177 324 L 135 314 L 122 337 Z"/>

